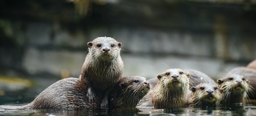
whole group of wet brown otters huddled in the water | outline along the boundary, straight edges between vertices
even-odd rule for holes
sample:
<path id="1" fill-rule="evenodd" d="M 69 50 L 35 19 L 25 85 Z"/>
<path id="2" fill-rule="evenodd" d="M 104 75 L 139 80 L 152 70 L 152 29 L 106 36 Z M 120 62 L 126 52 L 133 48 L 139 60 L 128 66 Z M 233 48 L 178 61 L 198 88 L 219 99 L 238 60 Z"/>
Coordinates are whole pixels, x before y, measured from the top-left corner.
<path id="1" fill-rule="evenodd" d="M 217 83 L 200 71 L 182 69 L 168 69 L 147 81 L 140 76 L 122 77 L 122 43 L 98 37 L 87 45 L 79 79 L 54 83 L 30 104 L 0 109 L 230 106 L 245 103 L 256 87 L 256 60 L 231 70 Z"/>

